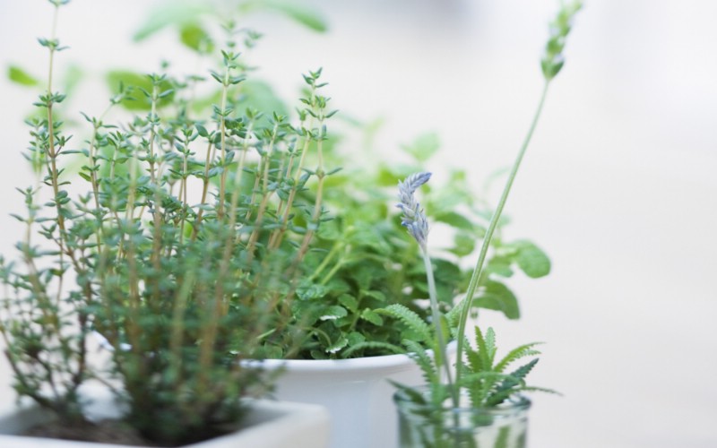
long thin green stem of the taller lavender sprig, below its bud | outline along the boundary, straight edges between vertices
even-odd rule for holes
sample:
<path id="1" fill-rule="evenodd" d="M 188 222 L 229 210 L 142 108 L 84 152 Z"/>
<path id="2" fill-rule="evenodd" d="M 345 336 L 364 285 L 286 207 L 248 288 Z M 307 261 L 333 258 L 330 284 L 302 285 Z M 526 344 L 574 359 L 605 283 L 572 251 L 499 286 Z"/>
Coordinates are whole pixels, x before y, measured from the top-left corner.
<path id="1" fill-rule="evenodd" d="M 486 255 L 488 254 L 488 247 L 490 246 L 490 241 L 493 238 L 493 233 L 496 231 L 498 220 L 500 220 L 500 216 L 503 213 L 503 208 L 505 207 L 505 202 L 508 199 L 508 194 L 510 194 L 511 187 L 513 186 L 513 182 L 515 180 L 515 175 L 518 173 L 518 168 L 521 166 L 521 162 L 523 161 L 523 156 L 525 155 L 525 151 L 528 149 L 528 144 L 531 142 L 532 134 L 535 131 L 536 125 L 538 125 L 538 119 L 540 118 L 540 114 L 543 109 L 543 105 L 545 104 L 545 98 L 548 95 L 548 87 L 550 82 L 546 81 L 545 85 L 543 86 L 542 94 L 540 95 L 540 102 L 538 103 L 538 108 L 535 110 L 535 115 L 532 118 L 531 127 L 528 130 L 528 134 L 525 135 L 525 140 L 523 141 L 523 146 L 521 146 L 520 151 L 518 151 L 518 156 L 515 158 L 513 168 L 511 168 L 510 174 L 508 175 L 507 180 L 505 181 L 505 186 L 503 188 L 503 193 L 500 195 L 500 200 L 497 203 L 496 211 L 493 213 L 493 216 L 490 219 L 490 224 L 488 224 L 488 230 L 486 231 L 486 236 L 483 238 L 483 244 L 480 246 L 480 253 L 478 256 L 478 261 L 476 262 L 476 267 L 473 269 L 473 274 L 471 275 L 471 281 L 468 284 L 468 290 L 466 291 L 465 301 L 463 303 L 463 308 L 461 310 L 461 319 L 459 321 L 458 325 L 458 347 L 457 347 L 457 356 L 458 356 L 458 362 L 456 363 L 456 374 L 455 374 L 455 380 L 456 382 L 461 381 L 462 376 L 462 356 L 463 356 L 463 350 L 465 349 L 463 347 L 463 335 L 465 334 L 465 327 L 466 323 L 468 322 L 468 315 L 471 312 L 471 307 L 473 305 L 473 296 L 475 295 L 476 289 L 478 289 L 478 284 L 480 280 L 480 276 L 483 273 L 483 263 L 486 261 Z"/>

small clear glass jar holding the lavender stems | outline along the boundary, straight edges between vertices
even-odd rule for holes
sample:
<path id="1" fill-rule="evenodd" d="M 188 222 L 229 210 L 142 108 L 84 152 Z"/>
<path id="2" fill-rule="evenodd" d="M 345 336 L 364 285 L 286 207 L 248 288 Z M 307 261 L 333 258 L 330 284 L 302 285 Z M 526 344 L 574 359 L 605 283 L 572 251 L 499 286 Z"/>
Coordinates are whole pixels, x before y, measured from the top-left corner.
<path id="1" fill-rule="evenodd" d="M 417 389 L 428 397 L 428 389 Z M 461 406 L 451 401 L 436 407 L 410 400 L 403 392 L 393 395 L 399 417 L 401 448 L 525 448 L 531 401 L 511 398 L 497 407 L 472 408 L 467 394 Z"/>

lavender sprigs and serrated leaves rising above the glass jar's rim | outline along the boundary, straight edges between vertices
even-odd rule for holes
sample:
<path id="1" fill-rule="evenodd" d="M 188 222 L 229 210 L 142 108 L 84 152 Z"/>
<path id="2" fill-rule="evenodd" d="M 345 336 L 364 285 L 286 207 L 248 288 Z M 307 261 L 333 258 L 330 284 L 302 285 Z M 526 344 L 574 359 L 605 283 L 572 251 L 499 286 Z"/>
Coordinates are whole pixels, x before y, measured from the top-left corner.
<path id="1" fill-rule="evenodd" d="M 476 328 L 477 350 L 471 349 L 471 345 L 466 339 L 465 334 L 479 284 L 481 281 L 485 281 L 488 249 L 491 247 L 494 234 L 499 226 L 501 215 L 505 208 L 505 202 L 507 201 L 514 179 L 523 161 L 523 156 L 531 142 L 532 134 L 538 124 L 550 82 L 552 82 L 564 65 L 563 49 L 565 47 L 566 37 L 571 29 L 574 14 L 577 13 L 581 7 L 582 2 L 580 0 L 569 4 L 562 4 L 558 10 L 556 19 L 550 23 L 550 37 L 546 45 L 545 55 L 541 61 L 545 83 L 540 95 L 538 108 L 535 111 L 523 145 L 518 151 L 514 164 L 508 174 L 503 192 L 497 202 L 496 210 L 493 212 L 490 222 L 488 223 L 485 236 L 482 238 L 478 260 L 472 271 L 465 298 L 447 315 L 447 319 L 436 313 L 434 314 L 433 333 L 437 345 L 436 357 L 430 358 L 423 354 L 413 355 L 419 363 L 419 366 L 422 367 L 426 379 L 431 385 L 430 390 L 433 394 L 432 402 L 436 406 L 442 406 L 445 398 L 450 397 L 454 407 L 457 408 L 459 406 L 459 391 L 462 389 L 469 392 L 472 401 L 471 405 L 475 408 L 494 407 L 510 398 L 516 392 L 538 390 L 524 385 L 524 376 L 531 371 L 537 359 L 519 367 L 512 374 L 504 374 L 505 366 L 515 359 L 539 354 L 537 350 L 533 349 L 534 344 L 528 344 L 514 349 L 506 358 L 494 363 L 496 348 L 493 330 L 488 329 L 488 332 L 486 332 L 484 336 L 484 334 Z M 424 211 L 420 208 L 418 200 L 414 197 L 418 186 L 426 183 L 429 177 L 429 173 L 417 173 L 407 177 L 404 182 L 400 183 L 400 203 L 398 207 L 404 212 L 403 225 L 408 229 L 410 236 L 416 240 L 421 248 L 424 260 L 427 261 L 428 283 L 431 284 L 433 269 L 430 266 L 428 254 L 426 254 L 428 220 Z M 438 299 L 435 291 L 430 291 L 429 297 L 432 309 L 436 310 Z M 400 317 L 406 321 L 410 321 L 416 317 L 413 312 L 405 308 L 402 308 L 398 312 L 394 309 L 391 313 L 400 315 Z M 445 324 L 446 320 L 449 325 Z M 457 339 L 457 362 L 454 378 L 450 375 L 450 366 L 445 357 L 445 334 L 448 326 L 453 330 L 453 334 Z M 415 345 L 410 344 L 410 349 L 417 348 Z M 438 356 L 438 354 L 440 354 L 440 356 Z M 467 360 L 467 362 L 465 362 L 465 360 Z M 445 370 L 445 376 L 435 375 L 436 371 L 441 370 Z M 400 388 L 402 392 L 409 393 L 410 397 L 413 397 L 415 401 L 423 400 L 419 398 L 419 394 L 410 392 L 410 388 L 406 386 L 401 386 Z"/>

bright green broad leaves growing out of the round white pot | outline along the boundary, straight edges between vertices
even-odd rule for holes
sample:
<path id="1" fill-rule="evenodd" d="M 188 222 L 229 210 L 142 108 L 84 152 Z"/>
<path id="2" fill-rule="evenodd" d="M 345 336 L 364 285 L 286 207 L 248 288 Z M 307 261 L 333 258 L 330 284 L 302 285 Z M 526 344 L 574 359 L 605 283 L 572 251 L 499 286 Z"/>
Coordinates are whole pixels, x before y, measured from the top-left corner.
<path id="1" fill-rule="evenodd" d="M 337 144 L 327 147 L 327 159 L 346 168 L 326 184 L 325 201 L 334 217 L 324 223 L 315 251 L 307 256 L 310 293 L 294 304 L 295 314 L 307 316 L 307 340 L 300 358 L 384 355 L 395 352 L 404 340 L 423 341 L 410 325 L 385 312 L 400 305 L 423 320 L 429 314 L 426 268 L 419 247 L 401 226 L 393 190 L 405 172 L 431 163 L 438 148 L 436 134 L 420 135 L 402 147 L 410 163 L 399 165 L 352 160 Z M 437 296 L 448 312 L 466 289 L 471 272 L 462 262 L 485 236 L 491 211 L 472 192 L 462 170 L 451 172 L 445 184 L 428 189 L 425 198 L 430 219 L 454 235 L 454 244 L 431 259 Z M 504 220 L 500 228 L 506 224 Z M 527 240 L 495 238 L 491 247 L 489 269 L 474 306 L 516 319 L 518 301 L 505 279 L 515 270 L 531 278 L 547 275 L 549 258 Z"/>

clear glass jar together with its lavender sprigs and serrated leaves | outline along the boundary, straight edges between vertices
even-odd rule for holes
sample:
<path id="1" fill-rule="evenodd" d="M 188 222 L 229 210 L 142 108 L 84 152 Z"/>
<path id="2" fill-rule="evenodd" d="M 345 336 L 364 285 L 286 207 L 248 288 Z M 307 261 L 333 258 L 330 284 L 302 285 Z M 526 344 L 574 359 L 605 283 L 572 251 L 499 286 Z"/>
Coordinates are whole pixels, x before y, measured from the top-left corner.
<path id="1" fill-rule="evenodd" d="M 412 323 L 420 340 L 431 341 L 435 353 L 434 357 L 429 357 L 415 340 L 405 341 L 427 383 L 419 388 L 397 384 L 398 392 L 394 401 L 400 418 L 402 447 L 523 448 L 527 444 L 527 412 L 531 402 L 520 392 L 552 392 L 525 382 L 526 375 L 538 362 L 537 358 L 511 370 L 511 365 L 518 359 L 540 354 L 535 349 L 536 343 L 522 345 L 508 352 L 505 357 L 498 358 L 496 335 L 492 329 L 482 332 L 479 327 L 475 327 L 475 336 L 471 338 L 474 339 L 474 345 L 471 347 L 467 328 L 479 280 L 488 274 L 485 269 L 488 247 L 531 141 L 550 82 L 564 64 L 566 37 L 571 30 L 574 15 L 581 7 L 580 0 L 562 4 L 557 17 L 550 23 L 550 37 L 541 60 L 545 85 L 539 106 L 483 238 L 465 297 L 447 314 L 441 313 L 438 307 L 434 268 L 428 255 L 428 217 L 415 196 L 431 175 L 416 173 L 399 184 L 398 207 L 403 213 L 402 224 L 418 243 L 426 264 L 433 325 L 423 323 L 418 315 L 402 306 L 387 307 L 384 313 Z M 457 340 L 455 368 L 452 368 L 446 350 L 447 341 L 452 337 Z"/>

